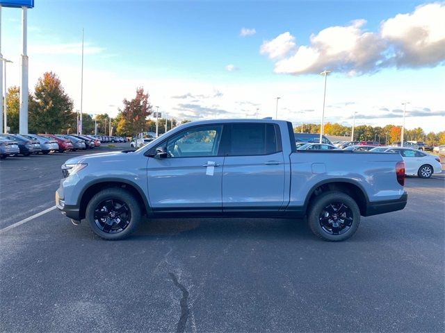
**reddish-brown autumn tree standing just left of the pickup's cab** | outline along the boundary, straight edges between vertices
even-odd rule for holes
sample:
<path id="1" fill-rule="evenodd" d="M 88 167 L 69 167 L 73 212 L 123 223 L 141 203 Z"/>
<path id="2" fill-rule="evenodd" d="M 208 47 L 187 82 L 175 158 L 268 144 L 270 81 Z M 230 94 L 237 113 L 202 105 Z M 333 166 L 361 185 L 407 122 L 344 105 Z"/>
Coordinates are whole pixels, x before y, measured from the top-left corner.
<path id="1" fill-rule="evenodd" d="M 142 87 L 136 89 L 136 97 L 128 101 L 124 99 L 124 108 L 119 112 L 121 114 L 122 126 L 120 127 L 120 133 L 125 135 L 136 135 L 145 130 L 145 122 L 147 117 L 152 114 L 152 105 L 150 105 L 149 94 L 144 93 Z"/>

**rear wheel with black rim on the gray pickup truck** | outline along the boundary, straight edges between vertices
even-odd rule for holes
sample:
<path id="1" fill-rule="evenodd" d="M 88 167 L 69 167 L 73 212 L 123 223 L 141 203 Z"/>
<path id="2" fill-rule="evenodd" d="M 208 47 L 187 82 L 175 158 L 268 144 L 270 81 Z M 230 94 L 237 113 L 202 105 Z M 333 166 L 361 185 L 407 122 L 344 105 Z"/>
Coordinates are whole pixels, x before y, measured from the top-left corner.
<path id="1" fill-rule="evenodd" d="M 309 207 L 307 223 L 312 232 L 325 241 L 344 241 L 359 228 L 360 210 L 347 194 L 329 191 L 316 196 Z"/>

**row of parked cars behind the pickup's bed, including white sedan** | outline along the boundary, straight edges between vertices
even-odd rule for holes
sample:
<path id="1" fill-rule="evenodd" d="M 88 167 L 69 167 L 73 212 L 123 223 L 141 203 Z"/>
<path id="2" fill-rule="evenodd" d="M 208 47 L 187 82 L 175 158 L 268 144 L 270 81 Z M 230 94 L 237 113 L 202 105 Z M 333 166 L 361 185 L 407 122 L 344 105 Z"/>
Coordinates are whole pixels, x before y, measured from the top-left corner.
<path id="1" fill-rule="evenodd" d="M 419 176 L 420 178 L 430 178 L 433 173 L 442 172 L 442 164 L 440 157 L 426 153 L 426 145 L 419 145 L 412 142 L 394 142 L 391 146 L 382 146 L 378 142 L 373 141 L 339 141 L 330 142 L 326 137 L 322 137 L 320 144 L 320 136 L 316 134 L 296 133 L 296 146 L 299 151 L 307 150 L 343 150 L 371 153 L 398 153 L 405 162 L 405 174 L 409 176 Z M 420 144 L 423 144 L 420 143 Z M 429 146 L 428 146 L 429 147 Z M 429 148 L 428 148 L 429 150 Z M 431 151 L 432 151 L 431 147 Z M 437 151 L 440 154 L 440 147 Z M 445 152 L 444 154 L 445 155 Z"/>

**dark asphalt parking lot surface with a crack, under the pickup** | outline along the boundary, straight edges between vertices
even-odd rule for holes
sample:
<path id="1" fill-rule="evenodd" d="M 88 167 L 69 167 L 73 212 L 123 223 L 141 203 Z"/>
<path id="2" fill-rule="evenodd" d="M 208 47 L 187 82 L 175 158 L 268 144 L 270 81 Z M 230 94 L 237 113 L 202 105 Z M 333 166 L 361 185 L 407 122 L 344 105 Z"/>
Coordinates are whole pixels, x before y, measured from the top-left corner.
<path id="1" fill-rule="evenodd" d="M 405 210 L 338 244 L 277 219 L 159 219 L 103 241 L 57 210 L 26 221 L 73 155 L 0 161 L 1 332 L 445 330 L 443 174 L 407 178 Z"/>

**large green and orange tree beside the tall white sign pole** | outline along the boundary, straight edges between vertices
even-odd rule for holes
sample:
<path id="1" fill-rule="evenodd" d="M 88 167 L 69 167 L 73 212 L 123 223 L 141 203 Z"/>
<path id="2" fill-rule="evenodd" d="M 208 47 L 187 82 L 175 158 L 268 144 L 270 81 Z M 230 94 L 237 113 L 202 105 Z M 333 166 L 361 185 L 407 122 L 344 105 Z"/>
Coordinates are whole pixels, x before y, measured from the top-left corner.
<path id="1" fill-rule="evenodd" d="M 34 98 L 29 100 L 29 131 L 65 133 L 72 122 L 72 109 L 72 99 L 58 76 L 52 71 L 44 73 L 35 85 Z"/>

